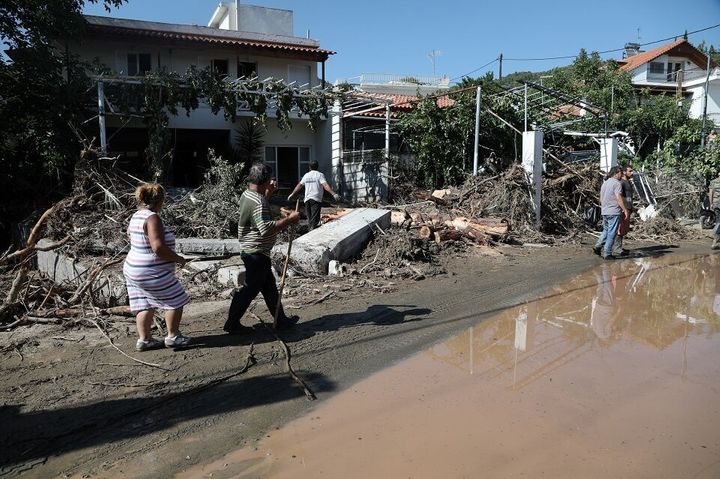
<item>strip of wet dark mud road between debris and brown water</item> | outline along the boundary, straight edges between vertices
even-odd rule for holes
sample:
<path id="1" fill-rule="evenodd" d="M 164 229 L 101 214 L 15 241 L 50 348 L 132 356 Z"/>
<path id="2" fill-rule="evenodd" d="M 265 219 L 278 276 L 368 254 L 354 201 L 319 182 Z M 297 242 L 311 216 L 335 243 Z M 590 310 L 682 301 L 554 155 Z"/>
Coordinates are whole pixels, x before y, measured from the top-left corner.
<path id="1" fill-rule="evenodd" d="M 709 252 L 704 243 L 629 246 L 649 256 Z M 196 344 L 181 351 L 135 353 L 134 324 L 114 323 L 114 344 L 151 365 L 121 355 L 87 324 L 2 333 L 0 475 L 173 477 L 257 444 L 372 373 L 600 262 L 589 246 L 505 246 L 392 292 L 368 285 L 304 308 L 282 337 L 317 401 L 287 375 L 263 327 L 223 334 L 227 301 L 188 308 L 183 332 Z M 270 319 L 262 304 L 254 311 Z"/>

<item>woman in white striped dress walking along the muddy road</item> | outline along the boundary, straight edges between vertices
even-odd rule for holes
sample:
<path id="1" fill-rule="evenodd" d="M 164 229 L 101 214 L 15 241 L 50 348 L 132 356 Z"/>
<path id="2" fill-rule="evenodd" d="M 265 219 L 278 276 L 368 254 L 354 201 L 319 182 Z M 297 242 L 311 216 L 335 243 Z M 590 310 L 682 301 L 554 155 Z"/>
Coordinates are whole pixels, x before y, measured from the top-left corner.
<path id="1" fill-rule="evenodd" d="M 184 266 L 185 258 L 175 253 L 175 236 L 165 229 L 158 215 L 165 191 L 157 183 L 144 183 L 135 190 L 135 199 L 138 211 L 128 226 L 130 252 L 123 265 L 130 310 L 137 313 L 139 339 L 135 349 L 145 351 L 162 345 L 150 332 L 155 309 L 166 310 L 165 346 L 185 346 L 190 338 L 178 328 L 188 295 L 175 277 L 175 264 Z"/>

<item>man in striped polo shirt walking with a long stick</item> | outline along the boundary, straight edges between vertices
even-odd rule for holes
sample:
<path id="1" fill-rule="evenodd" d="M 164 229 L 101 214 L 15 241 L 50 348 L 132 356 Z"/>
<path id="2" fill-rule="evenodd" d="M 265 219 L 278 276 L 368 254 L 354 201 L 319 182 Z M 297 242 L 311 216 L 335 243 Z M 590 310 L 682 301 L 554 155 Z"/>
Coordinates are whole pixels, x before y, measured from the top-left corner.
<path id="1" fill-rule="evenodd" d="M 297 223 L 300 213 L 293 211 L 285 218 L 273 220 L 270 216 L 268 198 L 277 189 L 272 169 L 264 163 L 255 163 L 248 174 L 248 188 L 240 197 L 238 210 L 238 237 L 240 254 L 245 264 L 245 282 L 230 302 L 228 319 L 223 326 L 229 334 L 243 334 L 251 329 L 240 323 L 253 299 L 262 293 L 270 314 L 275 315 L 279 305 L 277 328 L 288 329 L 298 321 L 297 316 L 286 316 L 279 304 L 279 293 L 272 273 L 270 251 L 277 234 Z"/>

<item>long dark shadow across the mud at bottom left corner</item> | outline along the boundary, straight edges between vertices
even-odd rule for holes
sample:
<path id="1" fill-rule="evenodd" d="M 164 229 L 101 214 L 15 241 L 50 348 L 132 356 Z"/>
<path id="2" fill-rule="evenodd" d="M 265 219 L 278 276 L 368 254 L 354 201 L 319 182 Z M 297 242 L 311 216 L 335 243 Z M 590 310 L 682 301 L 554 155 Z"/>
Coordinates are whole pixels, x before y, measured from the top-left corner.
<path id="1" fill-rule="evenodd" d="M 228 370 L 226 376 L 238 370 Z M 303 378 L 316 392 L 335 389 L 321 374 L 305 373 Z M 12 472 L 14 465 L 50 455 L 140 437 L 184 421 L 302 396 L 302 390 L 288 375 L 279 374 L 228 381 L 210 378 L 165 395 L 112 399 L 68 408 L 23 412 L 18 404 L 3 406 L 0 476 Z"/>

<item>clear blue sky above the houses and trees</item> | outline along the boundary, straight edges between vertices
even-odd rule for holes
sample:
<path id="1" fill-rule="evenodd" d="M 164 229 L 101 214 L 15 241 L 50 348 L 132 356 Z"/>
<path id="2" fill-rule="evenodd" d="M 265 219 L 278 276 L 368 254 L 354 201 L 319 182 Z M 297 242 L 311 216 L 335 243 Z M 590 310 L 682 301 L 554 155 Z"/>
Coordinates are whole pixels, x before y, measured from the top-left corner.
<path id="1" fill-rule="evenodd" d="M 138 20 L 206 25 L 217 0 L 129 0 L 107 13 L 89 5 L 85 13 Z M 720 0 L 253 0 L 242 3 L 294 11 L 295 35 L 336 51 L 326 64 L 329 81 L 362 73 L 431 76 L 457 81 L 494 71 L 503 54 L 503 74 L 566 65 L 588 51 L 622 49 L 720 24 Z M 689 36 L 720 47 L 720 27 Z M 672 38 L 669 41 L 672 41 Z M 650 49 L 662 45 L 647 45 Z M 621 58 L 621 52 L 603 58 Z M 489 65 L 487 65 L 490 63 Z M 485 66 L 487 65 L 487 66 Z M 482 68 L 481 68 L 482 67 Z"/>

